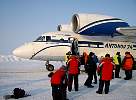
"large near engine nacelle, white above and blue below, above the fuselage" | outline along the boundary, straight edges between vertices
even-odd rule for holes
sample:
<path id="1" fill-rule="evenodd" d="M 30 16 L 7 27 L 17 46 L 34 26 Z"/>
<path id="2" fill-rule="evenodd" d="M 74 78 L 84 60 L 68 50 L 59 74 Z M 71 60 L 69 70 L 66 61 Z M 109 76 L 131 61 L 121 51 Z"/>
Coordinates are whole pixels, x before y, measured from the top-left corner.
<path id="1" fill-rule="evenodd" d="M 118 27 L 129 27 L 125 21 L 99 14 L 74 14 L 72 17 L 72 29 L 78 34 L 84 35 L 113 35 L 120 34 Z"/>

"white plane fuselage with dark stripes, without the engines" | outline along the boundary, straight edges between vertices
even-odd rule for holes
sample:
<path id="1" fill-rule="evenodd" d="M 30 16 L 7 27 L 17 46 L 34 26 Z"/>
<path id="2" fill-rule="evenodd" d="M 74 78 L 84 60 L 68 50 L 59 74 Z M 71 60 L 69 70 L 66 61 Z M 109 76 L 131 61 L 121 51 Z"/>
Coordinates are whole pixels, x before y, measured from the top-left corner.
<path id="1" fill-rule="evenodd" d="M 106 53 L 113 56 L 116 52 L 121 52 L 124 56 L 129 51 L 136 57 L 136 43 L 126 42 L 124 37 L 84 36 L 67 32 L 44 33 L 36 41 L 16 48 L 13 54 L 34 60 L 64 61 L 66 53 L 71 50 L 72 37 L 78 39 L 80 55 L 85 51 L 88 54 L 94 52 L 98 57 L 105 56 Z"/>

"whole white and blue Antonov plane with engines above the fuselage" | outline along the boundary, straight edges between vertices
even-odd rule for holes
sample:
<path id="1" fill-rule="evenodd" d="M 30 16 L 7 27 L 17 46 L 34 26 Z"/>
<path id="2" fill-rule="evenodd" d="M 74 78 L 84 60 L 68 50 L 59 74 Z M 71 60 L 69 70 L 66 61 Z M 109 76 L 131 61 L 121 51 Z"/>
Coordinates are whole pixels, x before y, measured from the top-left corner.
<path id="1" fill-rule="evenodd" d="M 121 52 L 123 57 L 129 51 L 136 57 L 136 27 L 111 16 L 74 14 L 71 24 L 59 25 L 58 31 L 42 34 L 35 41 L 16 48 L 13 54 L 47 62 L 64 61 L 66 53 L 73 48 L 79 55 L 84 51 L 88 54 L 92 51 L 98 57 Z M 54 66 L 48 63 L 46 68 L 53 70 Z"/>

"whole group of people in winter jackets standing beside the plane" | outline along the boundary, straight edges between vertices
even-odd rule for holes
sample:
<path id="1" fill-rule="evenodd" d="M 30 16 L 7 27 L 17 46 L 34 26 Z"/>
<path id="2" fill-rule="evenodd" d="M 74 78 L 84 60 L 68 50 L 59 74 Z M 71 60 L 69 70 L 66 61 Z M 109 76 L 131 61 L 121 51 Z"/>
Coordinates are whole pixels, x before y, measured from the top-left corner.
<path id="1" fill-rule="evenodd" d="M 67 86 L 68 91 L 71 92 L 72 84 L 74 81 L 74 89 L 78 91 L 78 76 L 80 74 L 80 65 L 84 65 L 85 72 L 88 77 L 84 85 L 88 88 L 93 88 L 92 80 L 94 78 L 94 84 L 97 84 L 97 74 L 100 76 L 99 87 L 96 93 L 102 94 L 103 87 L 105 85 L 105 94 L 109 92 L 110 80 L 113 78 L 113 70 L 115 69 L 115 78 L 121 78 L 119 75 L 120 68 L 125 70 L 125 80 L 132 78 L 133 56 L 130 52 L 125 53 L 125 57 L 121 60 L 120 52 L 117 52 L 115 56 L 110 57 L 110 54 L 106 54 L 105 57 L 98 60 L 95 53 L 90 52 L 89 55 L 83 52 L 81 57 L 71 55 L 66 62 L 66 66 L 62 65 L 55 73 L 51 72 L 48 76 L 51 77 L 52 97 L 53 100 L 68 100 L 67 98 Z"/>

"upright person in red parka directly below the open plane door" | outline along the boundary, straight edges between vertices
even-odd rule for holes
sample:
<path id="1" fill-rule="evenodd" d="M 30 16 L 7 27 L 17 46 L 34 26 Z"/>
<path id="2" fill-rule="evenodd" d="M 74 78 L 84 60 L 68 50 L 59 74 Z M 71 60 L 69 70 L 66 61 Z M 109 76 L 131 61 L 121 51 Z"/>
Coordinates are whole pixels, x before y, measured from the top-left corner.
<path id="1" fill-rule="evenodd" d="M 68 66 L 68 91 L 72 90 L 72 83 L 74 79 L 74 88 L 75 91 L 78 91 L 78 74 L 79 74 L 79 66 L 80 61 L 77 56 L 72 55 L 67 62 Z"/>

